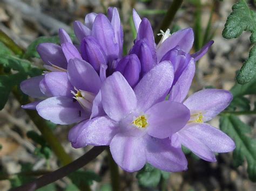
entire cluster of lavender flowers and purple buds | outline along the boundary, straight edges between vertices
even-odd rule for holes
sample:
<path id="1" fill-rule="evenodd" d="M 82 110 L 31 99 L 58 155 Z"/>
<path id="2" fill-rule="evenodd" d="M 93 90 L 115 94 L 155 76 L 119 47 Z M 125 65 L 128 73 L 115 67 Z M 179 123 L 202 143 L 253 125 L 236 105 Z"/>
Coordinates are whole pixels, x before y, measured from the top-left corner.
<path id="1" fill-rule="evenodd" d="M 230 137 L 205 123 L 230 104 L 231 93 L 204 89 L 186 98 L 195 61 L 213 41 L 190 54 L 192 29 L 161 31 L 156 45 L 149 20 L 135 10 L 133 20 L 137 38 L 125 56 L 116 8 L 107 16 L 86 15 L 85 24 L 75 22 L 79 45 L 62 29 L 60 45 L 39 45 L 46 71 L 21 84 L 39 101 L 23 108 L 56 124 L 78 123 L 69 132 L 73 147 L 110 145 L 113 159 L 128 172 L 146 162 L 163 171 L 184 171 L 181 145 L 207 161 L 215 161 L 216 152 L 234 150 Z"/>

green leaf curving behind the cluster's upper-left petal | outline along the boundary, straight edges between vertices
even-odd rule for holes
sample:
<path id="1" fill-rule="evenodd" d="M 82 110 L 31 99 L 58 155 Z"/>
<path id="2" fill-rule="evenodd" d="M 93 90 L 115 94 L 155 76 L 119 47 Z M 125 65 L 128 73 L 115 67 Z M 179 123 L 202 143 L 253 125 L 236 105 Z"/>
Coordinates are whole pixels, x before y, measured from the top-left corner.
<path id="1" fill-rule="evenodd" d="M 41 43 L 55 43 L 55 44 L 59 44 L 59 37 L 58 36 L 53 36 L 53 37 L 39 37 L 39 38 L 37 38 L 26 49 L 26 52 L 24 53 L 23 58 L 25 58 L 25 59 L 40 58 L 36 48 Z"/>

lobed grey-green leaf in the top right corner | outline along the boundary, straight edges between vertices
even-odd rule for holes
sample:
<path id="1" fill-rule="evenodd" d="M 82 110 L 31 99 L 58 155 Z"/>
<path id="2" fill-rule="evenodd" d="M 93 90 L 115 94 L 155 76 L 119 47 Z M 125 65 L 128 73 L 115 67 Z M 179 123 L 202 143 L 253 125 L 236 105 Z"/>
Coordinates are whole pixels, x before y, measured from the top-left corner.
<path id="1" fill-rule="evenodd" d="M 256 13 L 252 11 L 245 0 L 240 0 L 232 7 L 232 12 L 228 16 L 223 37 L 226 39 L 238 38 L 243 31 L 252 33 L 251 43 L 256 42 Z M 245 61 L 237 76 L 237 81 L 240 84 L 250 82 L 256 73 L 256 48 L 251 49 L 249 58 Z"/>

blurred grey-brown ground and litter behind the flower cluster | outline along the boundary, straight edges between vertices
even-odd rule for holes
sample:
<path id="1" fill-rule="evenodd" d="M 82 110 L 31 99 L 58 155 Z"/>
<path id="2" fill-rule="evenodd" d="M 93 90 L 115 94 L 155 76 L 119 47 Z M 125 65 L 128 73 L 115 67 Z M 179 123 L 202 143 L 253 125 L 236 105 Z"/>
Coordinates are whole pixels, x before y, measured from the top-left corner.
<path id="1" fill-rule="evenodd" d="M 72 34 L 72 22 L 75 20 L 83 22 L 86 13 L 105 13 L 109 6 L 116 6 L 123 23 L 124 46 L 129 51 L 134 39 L 131 25 L 132 8 L 137 10 L 140 17 L 149 18 L 154 32 L 159 33 L 161 20 L 171 3 L 172 1 L 157 0 L 0 0 L 0 29 L 25 49 L 38 37 L 57 35 L 60 27 Z M 248 58 L 250 33 L 243 33 L 240 38 L 231 40 L 226 40 L 221 35 L 234 3 L 233 0 L 186 0 L 170 26 L 172 32 L 185 27 L 194 29 L 193 52 L 198 51 L 208 40 L 214 40 L 210 51 L 197 63 L 197 74 L 190 93 L 205 87 L 230 90 L 235 82 L 236 71 Z M 39 59 L 33 59 L 33 64 L 42 67 L 42 61 Z M 251 103 L 256 101 L 255 96 L 247 96 L 247 98 Z M 252 127 L 250 136 L 255 138 L 255 115 L 239 116 L 239 118 Z M 218 127 L 219 118 L 213 119 L 210 123 Z M 50 123 L 49 125 L 72 158 L 76 159 L 89 150 L 89 147 L 81 149 L 71 147 L 67 139 L 71 126 L 57 126 Z M 12 95 L 5 108 L 0 111 L 0 128 L 0 190 L 21 185 L 59 167 L 57 158 L 50 148 L 31 139 L 35 135 L 39 136 L 40 133 Z M 32 135 L 28 136 L 27 132 Z M 188 171 L 164 174 L 167 178 L 161 178 L 155 187 L 152 185 L 145 187 L 138 182 L 137 173 L 126 173 L 119 169 L 121 188 L 122 190 L 256 190 L 256 183 L 251 182 L 247 177 L 246 162 L 235 168 L 232 165 L 232 153 L 219 154 L 218 162 L 213 163 L 199 160 L 189 152 L 187 159 Z M 92 183 L 92 190 L 111 190 L 106 152 L 84 169 L 96 173 L 95 176 L 87 178 Z M 149 176 L 148 181 L 154 181 L 150 178 L 152 177 Z M 77 188 L 71 184 L 70 179 L 64 178 L 42 190 L 77 190 Z"/>

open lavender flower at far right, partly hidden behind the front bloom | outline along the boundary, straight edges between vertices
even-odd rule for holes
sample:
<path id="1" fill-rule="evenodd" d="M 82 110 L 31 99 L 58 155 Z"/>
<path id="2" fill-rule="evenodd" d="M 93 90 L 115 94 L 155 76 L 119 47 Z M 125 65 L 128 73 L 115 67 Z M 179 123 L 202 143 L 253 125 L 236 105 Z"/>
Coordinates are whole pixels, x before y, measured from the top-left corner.
<path id="1" fill-rule="evenodd" d="M 190 120 L 183 129 L 171 136 L 172 146 L 184 145 L 201 159 L 211 162 L 216 161 L 215 152 L 233 151 L 235 144 L 230 137 L 204 123 L 217 116 L 231 101 L 230 91 L 220 89 L 204 89 L 188 97 L 183 104 L 190 109 Z"/>

